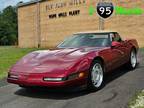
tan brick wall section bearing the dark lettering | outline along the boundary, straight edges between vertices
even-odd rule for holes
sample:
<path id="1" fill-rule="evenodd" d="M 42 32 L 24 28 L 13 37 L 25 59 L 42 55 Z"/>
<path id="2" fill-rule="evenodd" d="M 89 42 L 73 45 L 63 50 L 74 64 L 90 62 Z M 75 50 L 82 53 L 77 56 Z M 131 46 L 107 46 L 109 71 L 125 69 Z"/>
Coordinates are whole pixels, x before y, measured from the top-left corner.
<path id="1" fill-rule="evenodd" d="M 69 1 L 70 0 L 63 0 L 63 2 L 67 4 L 69 3 Z M 56 3 L 60 3 L 59 0 L 42 2 L 40 5 L 42 47 L 53 47 L 60 43 L 65 37 L 70 36 L 75 32 L 98 29 L 98 16 L 96 14 L 93 16 L 89 15 L 87 2 L 79 4 L 77 6 L 73 5 L 59 9 L 56 8 L 46 10 L 46 6 Z M 68 15 L 70 11 L 75 10 L 80 10 L 79 15 Z M 56 13 L 58 15 L 62 12 L 67 12 L 67 16 L 61 18 L 57 17 L 53 19 L 48 18 L 48 16 L 51 14 Z"/>

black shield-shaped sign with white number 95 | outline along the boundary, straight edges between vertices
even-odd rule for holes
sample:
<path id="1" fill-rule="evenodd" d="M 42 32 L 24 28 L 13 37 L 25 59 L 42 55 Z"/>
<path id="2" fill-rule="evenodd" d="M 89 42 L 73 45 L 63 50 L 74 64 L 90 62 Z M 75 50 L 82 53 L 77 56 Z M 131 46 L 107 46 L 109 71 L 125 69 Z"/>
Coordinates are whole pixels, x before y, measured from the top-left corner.
<path id="1" fill-rule="evenodd" d="M 97 4 L 97 13 L 102 18 L 108 18 L 113 14 L 114 6 L 110 2 L 99 2 Z"/>

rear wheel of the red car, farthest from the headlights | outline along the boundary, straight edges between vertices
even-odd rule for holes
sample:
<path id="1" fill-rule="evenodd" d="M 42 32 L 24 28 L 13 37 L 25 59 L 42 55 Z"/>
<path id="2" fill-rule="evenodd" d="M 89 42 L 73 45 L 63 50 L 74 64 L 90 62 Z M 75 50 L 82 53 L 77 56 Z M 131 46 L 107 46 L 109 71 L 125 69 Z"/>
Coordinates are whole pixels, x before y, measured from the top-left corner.
<path id="1" fill-rule="evenodd" d="M 135 69 L 137 66 L 137 53 L 135 49 L 132 49 L 130 52 L 129 62 L 127 63 L 127 67 L 131 70 Z"/>

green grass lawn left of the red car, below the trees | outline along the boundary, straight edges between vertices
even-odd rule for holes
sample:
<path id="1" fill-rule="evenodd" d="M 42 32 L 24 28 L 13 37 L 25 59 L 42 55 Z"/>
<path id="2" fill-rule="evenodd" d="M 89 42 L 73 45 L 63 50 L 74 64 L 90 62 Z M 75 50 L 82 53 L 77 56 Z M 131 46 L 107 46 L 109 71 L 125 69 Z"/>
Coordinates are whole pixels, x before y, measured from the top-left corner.
<path id="1" fill-rule="evenodd" d="M 7 76 L 9 68 L 21 57 L 37 48 L 17 48 L 14 46 L 0 46 L 0 79 Z"/>

